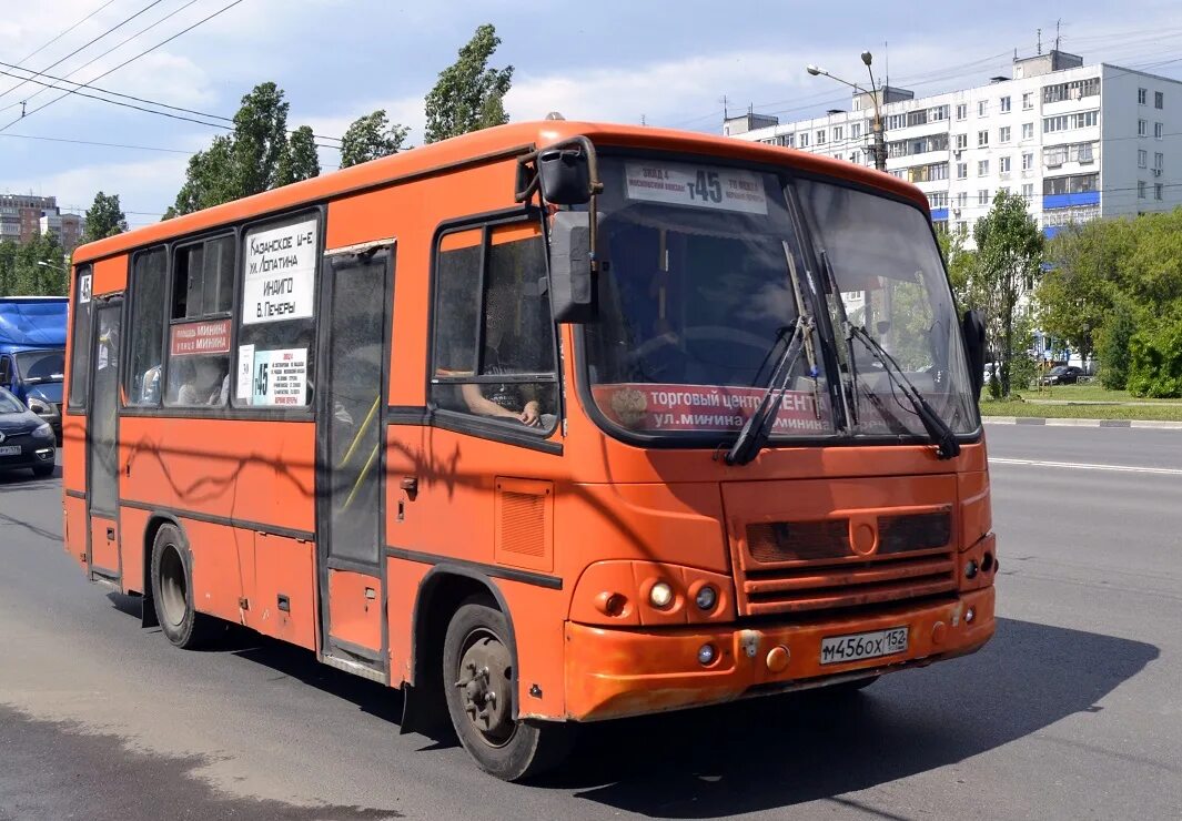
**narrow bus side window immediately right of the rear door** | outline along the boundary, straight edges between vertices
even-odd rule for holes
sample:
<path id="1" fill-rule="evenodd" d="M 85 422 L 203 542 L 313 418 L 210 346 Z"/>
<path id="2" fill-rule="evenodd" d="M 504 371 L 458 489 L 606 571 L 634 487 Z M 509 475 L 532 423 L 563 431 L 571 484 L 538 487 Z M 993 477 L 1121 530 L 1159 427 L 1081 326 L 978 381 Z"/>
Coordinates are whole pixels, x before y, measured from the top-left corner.
<path id="1" fill-rule="evenodd" d="M 168 293 L 168 250 L 136 254 L 131 263 L 131 327 L 128 330 L 126 404 L 158 406 L 164 357 L 164 301 Z"/>

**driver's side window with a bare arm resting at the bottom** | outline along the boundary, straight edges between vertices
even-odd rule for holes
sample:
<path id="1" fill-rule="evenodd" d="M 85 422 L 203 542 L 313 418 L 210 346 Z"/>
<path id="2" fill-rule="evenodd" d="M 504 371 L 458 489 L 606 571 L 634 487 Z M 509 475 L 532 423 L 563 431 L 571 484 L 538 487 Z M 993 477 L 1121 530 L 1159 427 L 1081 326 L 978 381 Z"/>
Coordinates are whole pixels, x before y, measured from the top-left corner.
<path id="1" fill-rule="evenodd" d="M 466 234 L 450 248 L 446 236 L 439 255 L 431 400 L 550 431 L 557 367 L 541 235 L 532 226 Z"/>

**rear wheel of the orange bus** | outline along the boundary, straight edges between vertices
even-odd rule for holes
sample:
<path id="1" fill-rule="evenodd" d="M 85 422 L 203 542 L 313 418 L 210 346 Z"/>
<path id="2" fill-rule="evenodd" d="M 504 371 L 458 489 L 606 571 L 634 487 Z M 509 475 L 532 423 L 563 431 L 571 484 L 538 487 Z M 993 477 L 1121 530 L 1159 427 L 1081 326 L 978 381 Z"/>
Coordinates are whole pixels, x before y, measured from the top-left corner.
<path id="1" fill-rule="evenodd" d="M 182 650 L 208 646 L 226 632 L 193 606 L 193 554 L 174 524 L 162 526 L 151 546 L 151 598 L 161 631 Z"/>

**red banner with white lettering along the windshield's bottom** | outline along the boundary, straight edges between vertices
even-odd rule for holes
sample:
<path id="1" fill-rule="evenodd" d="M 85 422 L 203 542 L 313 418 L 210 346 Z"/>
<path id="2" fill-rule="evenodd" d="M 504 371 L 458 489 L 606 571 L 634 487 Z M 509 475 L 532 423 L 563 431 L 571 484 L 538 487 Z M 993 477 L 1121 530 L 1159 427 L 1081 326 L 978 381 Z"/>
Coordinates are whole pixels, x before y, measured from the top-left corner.
<path id="1" fill-rule="evenodd" d="M 764 398 L 761 387 L 622 383 L 592 387 L 612 422 L 639 431 L 736 431 Z M 772 426 L 774 434 L 830 430 L 827 409 L 808 391 L 785 391 Z"/>

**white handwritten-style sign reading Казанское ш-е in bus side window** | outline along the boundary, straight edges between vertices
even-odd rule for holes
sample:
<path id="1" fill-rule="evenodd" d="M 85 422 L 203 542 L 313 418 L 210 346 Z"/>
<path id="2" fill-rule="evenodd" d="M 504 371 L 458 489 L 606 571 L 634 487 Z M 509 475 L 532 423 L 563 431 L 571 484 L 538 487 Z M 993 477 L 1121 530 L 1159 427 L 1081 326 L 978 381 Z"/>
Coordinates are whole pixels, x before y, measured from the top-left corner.
<path id="1" fill-rule="evenodd" d="M 314 216 L 246 235 L 243 325 L 312 315 L 319 235 L 319 220 Z"/>

